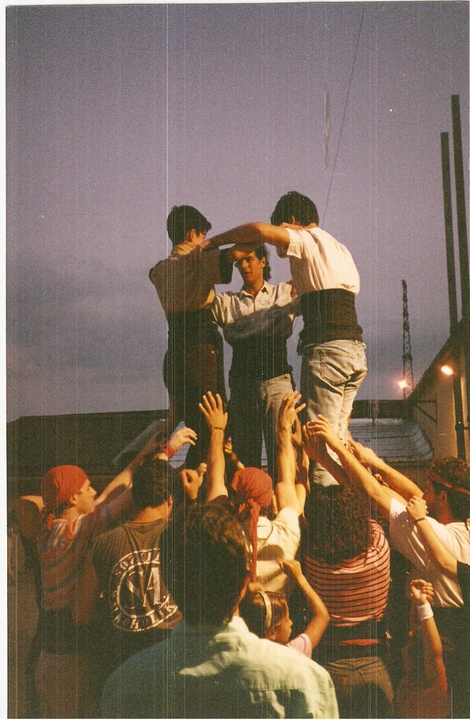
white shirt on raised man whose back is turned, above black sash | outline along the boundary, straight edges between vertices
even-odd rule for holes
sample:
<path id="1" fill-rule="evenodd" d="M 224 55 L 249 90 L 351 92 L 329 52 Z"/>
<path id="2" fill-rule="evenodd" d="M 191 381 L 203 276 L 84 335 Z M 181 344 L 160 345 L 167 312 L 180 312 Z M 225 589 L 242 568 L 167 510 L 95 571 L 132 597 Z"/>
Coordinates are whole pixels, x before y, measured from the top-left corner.
<path id="1" fill-rule="evenodd" d="M 359 292 L 359 273 L 350 251 L 322 228 L 286 228 L 291 238 L 287 256 L 298 295 L 342 288 Z"/>

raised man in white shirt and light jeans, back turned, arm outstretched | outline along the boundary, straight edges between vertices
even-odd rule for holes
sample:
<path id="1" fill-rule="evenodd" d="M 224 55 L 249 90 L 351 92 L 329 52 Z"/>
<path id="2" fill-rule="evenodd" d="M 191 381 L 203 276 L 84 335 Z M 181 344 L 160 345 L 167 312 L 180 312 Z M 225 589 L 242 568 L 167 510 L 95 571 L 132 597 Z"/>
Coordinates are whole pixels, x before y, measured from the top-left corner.
<path id="1" fill-rule="evenodd" d="M 355 311 L 359 274 L 350 252 L 319 228 L 314 202 L 298 192 L 283 195 L 271 216 L 240 225 L 212 238 L 226 243 L 269 243 L 289 258 L 294 287 L 300 297 L 303 330 L 301 395 L 309 420 L 321 413 L 346 442 L 347 418 L 365 374 L 365 345 Z M 318 463 L 314 482 L 332 485 L 334 479 Z"/>

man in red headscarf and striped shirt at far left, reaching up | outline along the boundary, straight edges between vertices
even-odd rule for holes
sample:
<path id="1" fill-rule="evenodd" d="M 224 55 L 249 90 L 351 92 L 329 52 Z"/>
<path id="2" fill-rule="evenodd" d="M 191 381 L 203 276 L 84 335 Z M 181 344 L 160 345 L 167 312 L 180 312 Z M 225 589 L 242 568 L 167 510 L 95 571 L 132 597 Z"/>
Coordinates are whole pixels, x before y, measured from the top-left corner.
<path id="1" fill-rule="evenodd" d="M 172 454 L 172 441 L 162 451 Z M 156 449 L 152 436 L 98 498 L 87 474 L 76 465 L 58 465 L 43 477 L 45 507 L 38 539 L 41 653 L 35 672 L 41 717 L 96 715 L 88 629 L 76 628 L 72 610 L 93 539 L 125 519 L 132 504 L 133 472 Z M 120 495 L 111 500 L 117 491 Z"/>

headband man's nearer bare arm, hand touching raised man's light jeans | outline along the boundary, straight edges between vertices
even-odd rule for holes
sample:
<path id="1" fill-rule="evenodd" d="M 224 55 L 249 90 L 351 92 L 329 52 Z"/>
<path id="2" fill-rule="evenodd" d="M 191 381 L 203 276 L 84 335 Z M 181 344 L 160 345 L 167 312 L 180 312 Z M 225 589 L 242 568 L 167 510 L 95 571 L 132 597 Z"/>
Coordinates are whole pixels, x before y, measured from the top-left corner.
<path id="1" fill-rule="evenodd" d="M 306 451 L 311 459 L 319 462 L 332 474 L 340 485 L 351 485 L 365 492 L 377 504 L 385 518 L 389 517 L 391 495 L 373 475 L 360 464 L 357 457 L 347 449 L 326 418 L 307 423 L 305 427 Z M 326 445 L 334 450 L 341 465 L 329 456 Z"/>

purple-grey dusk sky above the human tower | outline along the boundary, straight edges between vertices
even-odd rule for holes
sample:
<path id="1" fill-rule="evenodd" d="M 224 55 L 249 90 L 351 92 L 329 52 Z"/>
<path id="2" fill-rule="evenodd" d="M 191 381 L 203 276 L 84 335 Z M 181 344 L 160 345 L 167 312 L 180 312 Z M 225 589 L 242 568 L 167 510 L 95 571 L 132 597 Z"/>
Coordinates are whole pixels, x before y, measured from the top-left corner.
<path id="1" fill-rule="evenodd" d="M 440 132 L 459 94 L 469 168 L 468 3 L 12 6 L 6 30 L 8 420 L 166 408 L 169 210 L 218 233 L 291 189 L 360 272 L 358 397 L 401 397 L 402 279 L 420 378 L 449 331 Z"/>

